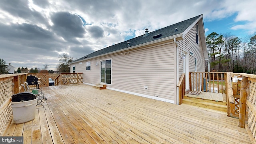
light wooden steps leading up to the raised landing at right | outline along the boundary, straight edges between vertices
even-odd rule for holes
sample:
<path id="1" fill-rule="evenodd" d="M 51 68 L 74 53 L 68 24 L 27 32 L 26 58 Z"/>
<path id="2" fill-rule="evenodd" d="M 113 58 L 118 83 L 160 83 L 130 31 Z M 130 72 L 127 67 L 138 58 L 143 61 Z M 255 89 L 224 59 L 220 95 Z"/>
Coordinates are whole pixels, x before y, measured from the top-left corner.
<path id="1" fill-rule="evenodd" d="M 213 100 L 205 100 L 200 98 L 192 98 L 188 96 L 184 96 L 182 100 L 183 104 L 190 104 L 193 106 L 199 106 L 203 108 L 209 108 L 212 110 L 219 110 L 222 112 L 227 112 L 227 103 L 226 102 L 216 102 Z"/>

